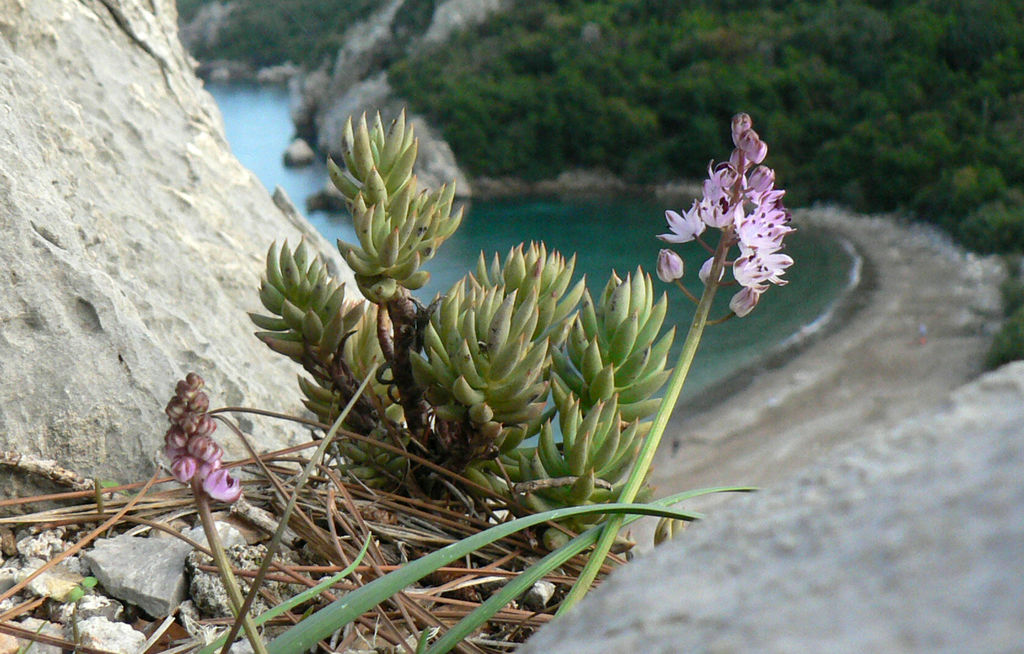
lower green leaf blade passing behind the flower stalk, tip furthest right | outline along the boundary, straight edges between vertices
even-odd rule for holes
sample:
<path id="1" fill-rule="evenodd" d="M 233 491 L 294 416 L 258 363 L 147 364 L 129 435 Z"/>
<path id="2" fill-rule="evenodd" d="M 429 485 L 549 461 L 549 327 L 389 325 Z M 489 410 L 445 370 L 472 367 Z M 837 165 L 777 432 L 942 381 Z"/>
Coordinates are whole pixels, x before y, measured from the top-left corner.
<path id="1" fill-rule="evenodd" d="M 675 495 L 669 495 L 668 497 L 662 497 L 660 499 L 654 499 L 650 504 L 667 507 L 684 499 L 697 497 L 699 495 L 707 495 L 716 492 L 749 492 L 751 490 L 754 489 L 744 486 L 699 488 L 696 490 L 676 493 Z M 630 524 L 640 518 L 641 516 L 631 516 L 624 521 L 624 524 Z M 452 648 L 475 631 L 477 627 L 489 620 L 496 613 L 498 613 L 498 611 L 502 609 L 502 607 L 506 606 L 509 602 L 528 591 L 535 583 L 543 579 L 544 576 L 552 570 L 561 566 L 572 557 L 594 544 L 600 533 L 601 525 L 591 527 L 572 540 L 568 541 L 561 548 L 555 550 L 548 556 L 520 572 L 518 575 L 510 579 L 504 586 L 502 586 L 501 591 L 492 595 L 482 604 L 480 604 L 480 606 L 473 609 L 469 615 L 459 620 L 455 626 L 445 631 L 444 636 L 439 638 L 437 642 L 434 643 L 429 650 L 427 650 L 427 654 L 445 654 L 446 652 L 450 652 Z"/>

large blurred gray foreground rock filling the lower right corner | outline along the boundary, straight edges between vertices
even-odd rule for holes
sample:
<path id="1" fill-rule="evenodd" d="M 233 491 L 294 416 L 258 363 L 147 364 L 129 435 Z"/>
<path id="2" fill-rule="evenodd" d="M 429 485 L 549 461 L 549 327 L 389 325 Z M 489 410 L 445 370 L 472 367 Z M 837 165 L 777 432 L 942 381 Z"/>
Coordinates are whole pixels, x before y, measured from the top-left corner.
<path id="1" fill-rule="evenodd" d="M 522 654 L 1018 652 L 1024 362 L 716 509 Z"/>

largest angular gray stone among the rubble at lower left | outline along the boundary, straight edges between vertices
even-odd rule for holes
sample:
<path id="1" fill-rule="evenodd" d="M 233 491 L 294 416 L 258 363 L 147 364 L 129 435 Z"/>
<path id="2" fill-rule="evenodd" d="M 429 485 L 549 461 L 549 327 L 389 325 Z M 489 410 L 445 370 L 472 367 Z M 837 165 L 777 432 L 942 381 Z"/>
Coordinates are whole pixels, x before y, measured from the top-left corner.
<path id="1" fill-rule="evenodd" d="M 109 595 L 160 618 L 185 598 L 189 552 L 191 547 L 176 538 L 123 535 L 96 540 L 83 558 Z"/>

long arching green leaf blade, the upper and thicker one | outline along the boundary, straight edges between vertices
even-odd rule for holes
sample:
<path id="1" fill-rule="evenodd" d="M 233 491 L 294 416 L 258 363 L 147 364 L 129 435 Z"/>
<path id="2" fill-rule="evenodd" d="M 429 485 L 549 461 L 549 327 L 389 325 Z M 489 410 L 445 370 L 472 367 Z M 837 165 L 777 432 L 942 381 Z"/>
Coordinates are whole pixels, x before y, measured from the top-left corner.
<path id="1" fill-rule="evenodd" d="M 365 586 L 352 591 L 340 600 L 324 607 L 302 622 L 291 627 L 268 646 L 269 654 L 299 654 L 315 645 L 318 641 L 334 634 L 337 629 L 356 619 L 365 612 L 377 606 L 387 598 L 398 593 L 406 586 L 415 583 L 456 559 L 471 554 L 496 540 L 500 540 L 516 531 L 543 524 L 549 520 L 561 520 L 573 516 L 592 514 L 641 514 L 675 518 L 677 520 L 692 520 L 693 516 L 681 511 L 674 511 L 651 505 L 642 504 L 609 504 L 589 507 L 569 507 L 545 513 L 517 518 L 475 533 L 458 542 L 445 546 L 425 557 L 417 559 L 383 577 L 374 579 Z"/>

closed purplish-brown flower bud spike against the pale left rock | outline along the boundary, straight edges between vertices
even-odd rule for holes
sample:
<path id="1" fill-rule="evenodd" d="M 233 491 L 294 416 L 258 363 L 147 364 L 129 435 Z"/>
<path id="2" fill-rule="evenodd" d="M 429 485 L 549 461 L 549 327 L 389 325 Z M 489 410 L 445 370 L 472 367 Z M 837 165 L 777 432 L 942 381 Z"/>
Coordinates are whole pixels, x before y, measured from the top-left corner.
<path id="1" fill-rule="evenodd" d="M 164 435 L 164 452 L 171 460 L 175 479 L 183 484 L 198 479 L 207 495 L 232 503 L 242 496 L 242 484 L 220 467 L 224 450 L 212 438 L 217 424 L 207 413 L 210 398 L 203 386 L 203 378 L 196 373 L 178 382 L 164 409 L 171 422 Z"/>

